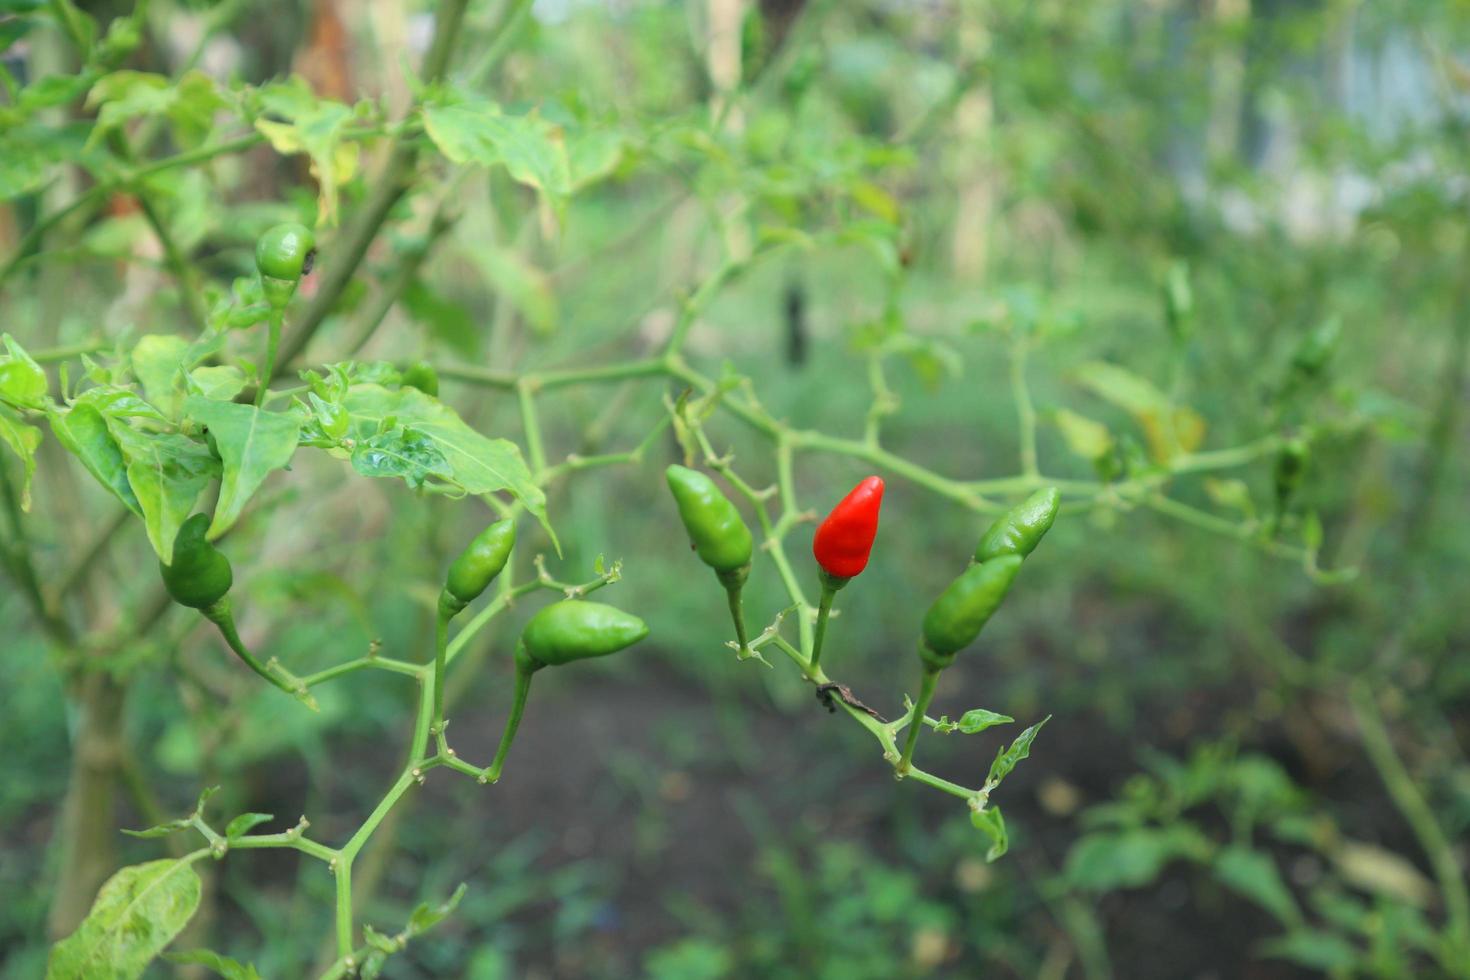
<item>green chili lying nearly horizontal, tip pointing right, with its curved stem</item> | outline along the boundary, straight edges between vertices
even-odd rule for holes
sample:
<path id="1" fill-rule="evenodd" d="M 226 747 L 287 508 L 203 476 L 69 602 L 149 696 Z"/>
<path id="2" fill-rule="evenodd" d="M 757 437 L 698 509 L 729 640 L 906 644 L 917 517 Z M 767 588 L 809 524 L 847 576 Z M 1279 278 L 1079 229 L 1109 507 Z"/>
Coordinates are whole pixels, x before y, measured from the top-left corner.
<path id="1" fill-rule="evenodd" d="M 495 758 L 485 770 L 484 779 L 491 783 L 500 779 L 510 743 L 516 738 L 516 729 L 520 727 L 520 716 L 526 710 L 531 676 L 535 671 L 569 664 L 573 660 L 607 657 L 632 646 L 647 635 L 648 626 L 632 613 L 587 599 L 553 602 L 532 616 L 516 646 L 516 692 L 510 717 L 506 718 L 500 748 L 495 749 Z"/>

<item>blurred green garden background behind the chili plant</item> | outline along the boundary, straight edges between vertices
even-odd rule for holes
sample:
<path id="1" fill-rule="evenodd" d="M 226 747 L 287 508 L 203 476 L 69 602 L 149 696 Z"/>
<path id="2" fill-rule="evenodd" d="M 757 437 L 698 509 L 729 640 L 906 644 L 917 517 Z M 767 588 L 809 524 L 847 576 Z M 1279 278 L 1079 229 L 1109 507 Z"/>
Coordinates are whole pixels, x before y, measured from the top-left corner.
<path id="1" fill-rule="evenodd" d="M 81 6 L 103 24 L 121 12 Z M 250 84 L 294 72 L 392 116 L 415 96 L 425 7 L 154 0 L 128 65 L 171 75 L 194 57 Z M 54 29 L 7 41 L 13 78 L 71 71 Z M 688 347 L 753 378 L 775 416 L 860 433 L 882 351 L 898 406 L 885 445 L 1005 476 L 1020 348 L 1042 470 L 1092 479 L 1104 450 L 1157 448 L 1091 367 L 1110 361 L 1188 407 L 1176 425 L 1201 448 L 1308 433 L 1282 533 L 1310 541 L 1320 525 L 1320 566 L 1358 574 L 1317 582 L 1261 545 L 1269 460 L 1172 488 L 1214 516 L 1205 526 L 1122 498 L 1064 510 L 935 705 L 1054 716 L 1003 790 L 1011 855 L 986 864 L 963 808 L 894 785 L 792 673 L 720 645 L 719 591 L 691 583 L 660 492 L 672 442 L 560 483 L 553 572 L 623 560 L 616 601 L 654 642 L 548 677 L 494 792 L 431 779 L 391 818 L 359 873 L 369 921 L 470 884 L 391 976 L 1470 976 L 1467 43 L 1458 0 L 470 4 L 451 79 L 617 134 L 606 179 L 563 200 L 504 170 L 420 162 L 307 361 L 344 357 L 401 275 L 362 357 L 520 370 L 638 356 L 722 250 L 789 241 L 719 294 Z M 373 166 L 365 153 L 341 184 L 344 215 Z M 56 166 L 12 197 L 4 254 L 84 179 Z M 319 206 L 303 159 L 268 150 L 153 190 L 203 275 L 225 281 L 263 225 Z M 7 331 L 46 348 L 187 329 L 128 198 L 66 231 L 6 285 Z M 1192 313 L 1172 320 L 1180 282 Z M 1333 335 L 1317 364 L 1313 345 Z M 512 394 L 444 376 L 472 425 L 520 438 Z M 548 453 L 637 444 L 662 394 L 560 392 L 542 408 Z M 753 483 L 775 478 L 745 432 L 714 435 Z M 101 510 L 51 450 L 28 520 L 60 574 Z M 797 476 L 817 507 L 866 472 L 811 457 Z M 883 475 L 878 557 L 842 594 L 829 660 L 856 691 L 894 692 L 881 707 L 895 714 L 919 614 L 950 573 L 936 555 L 983 522 Z M 306 670 L 372 641 L 420 657 L 438 570 L 482 520 L 300 466 L 231 539 L 253 639 Z M 118 620 L 144 560 L 135 527 L 94 558 L 74 597 L 93 621 Z M 779 608 L 759 566 L 750 589 L 757 620 Z M 19 591 L 0 594 L 0 971 L 32 977 L 49 915 L 57 927 L 76 716 Z M 494 746 L 523 616 L 453 677 L 466 757 Z M 168 616 L 91 667 L 126 688 L 109 826 L 187 811 L 216 782 L 226 808 L 306 813 L 325 836 L 356 826 L 397 764 L 385 746 L 410 693 L 357 674 L 303 718 L 220 663 L 206 630 Z M 1001 738 L 933 738 L 932 768 L 973 776 Z M 110 848 L 94 858 L 157 854 Z M 220 864 L 193 945 L 293 976 L 329 932 L 331 883 L 301 864 Z"/>

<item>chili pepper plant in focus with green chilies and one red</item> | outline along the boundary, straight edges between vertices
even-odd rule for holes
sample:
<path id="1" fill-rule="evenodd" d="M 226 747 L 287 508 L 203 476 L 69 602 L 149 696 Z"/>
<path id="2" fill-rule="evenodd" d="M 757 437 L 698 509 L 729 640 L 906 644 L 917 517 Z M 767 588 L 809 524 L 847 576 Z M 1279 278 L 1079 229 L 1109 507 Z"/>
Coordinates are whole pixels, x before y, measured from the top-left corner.
<path id="1" fill-rule="evenodd" d="M 786 190 L 769 198 L 756 191 L 741 207 L 714 209 L 714 254 L 700 263 L 691 282 L 660 297 L 670 309 L 667 329 L 632 356 L 572 353 L 564 363 L 538 367 L 525 367 L 510 353 L 488 363 L 401 347 L 390 347 L 394 353 L 384 359 L 360 357 L 390 311 L 419 295 L 419 273 L 460 220 L 460 198 L 475 182 L 503 194 L 507 212 L 519 207 L 525 234 L 548 242 L 567 220 L 573 197 L 642 170 L 689 179 L 685 192 L 707 200 L 751 192 L 725 167 L 725 154 L 741 145 L 729 109 L 637 129 L 578 118 L 550 101 L 513 109 L 491 100 L 478 82 L 495 71 L 529 4 L 507 3 L 491 24 L 466 26 L 469 6 L 466 0 L 435 4 L 434 34 L 412 103 L 400 112 L 370 100 L 329 98 L 300 78 L 226 84 L 187 66 L 193 59 L 171 73 L 140 71 L 134 68 L 143 56 L 140 44 L 156 26 L 150 26 L 146 3 L 103 24 L 71 0 L 0 18 L 4 31 L 63 38 L 62 60 L 69 65 L 24 84 L 0 69 L 9 88 L 0 110 L 6 163 L 0 191 L 35 206 L 18 248 L 0 264 L 0 288 L 12 298 L 24 294 L 66 260 L 63 242 L 85 238 L 90 222 L 118 201 L 135 210 L 156 245 L 156 297 L 138 329 L 98 328 L 78 338 L 72 328 L 62 336 L 54 325 L 7 317 L 0 356 L 0 441 L 7 447 L 0 466 L 4 572 L 56 649 L 81 718 L 78 754 L 118 736 L 115 716 L 140 674 L 176 674 L 190 704 L 207 705 L 218 696 L 212 695 L 218 685 L 198 682 L 187 658 L 171 652 L 176 644 L 168 638 L 184 636 L 198 623 L 219 636 L 213 646 L 219 660 L 209 673 L 263 685 L 291 711 L 316 711 L 323 689 L 356 674 L 416 691 L 412 721 L 403 726 L 406 761 L 345 836 L 319 835 L 306 815 L 290 821 L 248 811 L 207 813 L 215 790 L 201 788 L 188 814 L 129 832 L 160 837 L 159 846 L 169 851 L 159 858 L 106 868 L 104 880 L 87 870 L 87 861 L 65 858 L 65 898 L 53 909 L 59 942 L 49 976 L 140 976 L 176 945 L 198 911 L 201 871 L 243 860 L 247 851 L 298 852 L 312 873 L 331 880 L 331 954 L 316 970 L 322 977 L 379 976 L 391 956 L 448 915 L 463 886 L 392 927 L 363 921 L 354 886 L 363 848 L 431 776 L 463 777 L 491 793 L 507 765 L 529 763 L 512 746 L 523 713 L 534 710 L 529 695 L 537 674 L 551 667 L 578 670 L 573 661 L 628 648 L 634 649 L 625 655 L 637 657 L 637 645 L 659 642 L 657 610 L 635 614 L 601 602 L 603 591 L 623 573 L 620 561 L 600 561 L 591 577 L 576 582 L 554 577 L 545 566 L 566 533 L 548 505 L 548 491 L 612 467 L 638 473 L 650 497 L 666 501 L 667 526 L 682 527 L 669 535 L 669 547 L 635 560 L 685 563 L 688 588 L 709 591 L 710 644 L 688 655 L 722 655 L 717 641 L 731 635 L 734 655 L 748 661 L 750 670 L 769 667 L 769 658 L 789 660 L 832 711 L 873 738 L 878 764 L 901 783 L 895 793 L 923 788 L 954 796 L 991 858 L 1008 848 L 992 793 L 1029 755 L 1045 720 L 1001 746 L 979 767 L 983 777 L 969 786 L 920 765 L 920 736 L 926 729 L 979 733 L 1011 721 L 986 708 L 956 711 L 967 695 L 941 680 L 960 655 L 985 657 L 978 642 L 982 629 L 1011 589 L 1026 588 L 1026 563 L 1047 560 L 1045 550 L 1036 548 L 1054 522 L 1147 507 L 1299 561 L 1314 577 L 1336 574 L 1317 567 L 1320 525 L 1294 511 L 1313 430 L 1282 425 L 1248 444 L 1204 450 L 1191 411 L 1123 367 L 1100 363 L 1088 367 L 1088 386 L 1138 419 L 1148 451 L 1120 445 L 1076 413 L 1061 413 L 1055 419 L 1067 444 L 1095 475 L 1053 476 L 1041 464 L 1038 410 L 1028 388 L 1026 357 L 1035 339 L 1020 326 L 1004 328 L 1020 447 L 1016 473 L 951 475 L 891 451 L 885 425 L 900 406 L 888 372 L 923 341 L 892 325 L 903 295 L 906 266 L 898 254 L 907 231 L 897 203 L 892 209 L 873 204 L 875 195 L 889 200 L 879 185 L 891 166 L 873 147 L 857 147 L 864 153 L 853 159 L 861 162 L 845 163 L 850 169 L 835 184 L 826 170 L 807 175 L 810 184 L 798 194 L 804 203 L 794 212 L 776 207 Z M 225 24 L 223 15 L 206 19 L 200 44 Z M 466 32 L 476 37 L 473 51 L 466 50 Z M 763 94 L 754 85 L 728 93 L 731 104 Z M 220 167 L 245 154 L 256 166 L 262 159 L 301 163 L 293 194 L 260 204 L 241 228 L 215 228 L 207 237 L 187 228 L 181 195 L 200 192 Z M 703 176 L 686 178 L 694 172 Z M 53 187 L 59 173 L 66 176 L 60 190 Z M 835 204 L 826 209 L 831 195 Z M 864 201 L 881 216 L 854 217 L 853 209 Z M 784 217 L 772 223 L 778 215 Z M 398 238 L 397 253 L 385 272 L 375 272 L 369 256 L 382 256 L 390 237 Z M 854 242 L 876 257 L 889 316 L 888 326 L 860 348 L 866 370 L 826 382 L 870 388 L 870 408 L 856 420 L 856 433 L 822 432 L 778 417 L 763 407 L 757 379 L 703 363 L 695 328 L 729 287 L 753 272 Z M 503 250 L 495 254 L 500 259 L 485 266 L 491 287 L 523 298 L 535 282 L 507 272 Z M 516 288 L 522 292 L 514 294 Z M 1189 303 L 1186 272 L 1175 270 L 1167 281 L 1173 329 L 1188 322 Z M 520 314 L 534 319 L 535 310 Z M 1313 338 L 1298 357 L 1292 383 L 1308 383 L 1320 373 L 1330 342 L 1330 336 Z M 626 447 L 587 451 L 548 441 L 542 411 L 557 411 L 578 392 L 609 386 L 659 406 L 659 422 Z M 491 401 L 513 403 L 519 430 L 487 432 L 472 422 Z M 736 428 L 764 445 L 763 464 L 776 473 L 775 485 L 754 483 L 747 460 L 723 451 Z M 670 430 L 678 447 L 672 463 L 666 458 Z M 417 583 L 432 617 L 422 644 L 331 651 L 335 663 L 309 670 L 251 639 L 259 636 L 251 630 L 259 613 L 248 591 L 241 594 L 232 563 L 254 566 L 247 545 L 260 548 L 276 535 L 310 538 L 310 527 L 288 532 L 262 519 L 270 513 L 273 494 L 300 491 L 306 478 L 288 470 L 318 466 L 309 457 L 476 513 L 484 530 L 460 542 L 457 557 L 438 563 L 428 576 L 435 579 L 432 589 Z M 835 458 L 860 463 L 873 475 L 848 491 L 832 475 Z M 1273 467 L 1276 500 L 1269 520 L 1227 520 L 1170 497 L 1177 479 L 1251 463 Z M 798 467 L 823 488 L 822 500 L 798 498 Z M 663 498 L 659 469 L 672 501 Z M 65 485 L 76 473 L 96 485 L 104 505 L 93 507 L 90 541 L 50 547 L 37 536 L 28 513 L 32 479 Z M 911 686 L 858 698 L 838 680 L 844 648 L 857 638 L 844 635 L 833 613 L 839 601 L 848 607 L 873 601 L 864 570 L 883 561 L 885 535 L 919 520 L 892 504 L 883 510 L 885 483 L 894 480 L 969 514 L 978 544 L 935 554 L 935 567 L 951 583 L 936 595 L 916 591 L 907 597 L 914 610 L 906 654 Z M 132 527 L 141 529 L 151 557 L 137 566 L 137 580 L 126 583 L 123 608 L 98 610 L 87 597 L 98 588 L 100 558 L 125 550 Z M 678 545 L 679 538 L 688 539 L 692 555 Z M 707 566 L 707 576 L 694 574 L 697 563 Z M 629 573 L 637 574 L 637 563 Z M 754 579 L 779 582 L 784 608 L 753 608 L 747 585 Z M 594 592 L 597 601 L 589 598 Z M 447 680 L 456 667 L 497 670 L 467 655 L 472 644 L 510 610 L 541 599 L 551 601 L 500 651 L 500 677 L 513 693 L 498 749 L 490 760 L 465 758 L 454 749 Z M 309 608 L 295 613 L 310 616 Z M 159 638 L 154 645 L 151 638 Z M 248 673 L 235 677 L 237 667 Z M 894 720 L 882 720 L 864 698 L 901 710 Z M 936 704 L 954 713 L 953 720 L 948 713 L 931 714 Z M 238 732 L 241 739 L 257 735 Z M 138 798 L 148 799 L 147 773 L 132 773 L 141 782 Z M 85 779 L 85 773 L 78 776 L 78 786 Z M 87 814 L 85 804 L 78 805 L 82 810 L 72 811 L 60 833 L 72 835 L 71 845 L 81 854 Z M 100 811 L 103 820 L 110 813 Z M 225 976 L 256 976 L 250 965 L 207 949 L 171 955 Z M 294 973 L 307 976 L 310 968 L 303 962 Z"/>

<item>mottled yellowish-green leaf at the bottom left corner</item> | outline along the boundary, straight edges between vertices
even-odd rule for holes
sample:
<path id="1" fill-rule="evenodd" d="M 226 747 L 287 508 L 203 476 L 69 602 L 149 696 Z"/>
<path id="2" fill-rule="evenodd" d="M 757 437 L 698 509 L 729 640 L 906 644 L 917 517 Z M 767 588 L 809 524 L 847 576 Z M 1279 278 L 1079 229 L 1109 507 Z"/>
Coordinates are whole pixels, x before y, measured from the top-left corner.
<path id="1" fill-rule="evenodd" d="M 47 980 L 131 980 L 173 942 L 198 908 L 200 880 L 184 860 L 122 868 L 101 886 L 76 932 L 51 946 Z"/>

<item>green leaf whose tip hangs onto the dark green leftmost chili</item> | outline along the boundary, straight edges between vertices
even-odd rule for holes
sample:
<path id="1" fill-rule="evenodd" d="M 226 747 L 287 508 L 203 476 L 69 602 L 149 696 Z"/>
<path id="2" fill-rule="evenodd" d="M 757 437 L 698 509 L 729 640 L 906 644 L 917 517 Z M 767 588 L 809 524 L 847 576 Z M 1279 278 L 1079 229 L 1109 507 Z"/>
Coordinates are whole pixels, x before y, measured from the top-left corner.
<path id="1" fill-rule="evenodd" d="M 173 538 L 219 475 L 219 461 L 182 435 L 140 432 L 122 419 L 109 419 L 107 426 L 128 460 L 128 485 L 143 508 L 148 544 L 159 560 L 172 561 Z"/>

